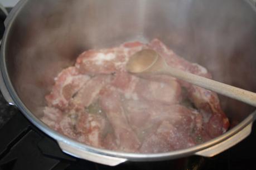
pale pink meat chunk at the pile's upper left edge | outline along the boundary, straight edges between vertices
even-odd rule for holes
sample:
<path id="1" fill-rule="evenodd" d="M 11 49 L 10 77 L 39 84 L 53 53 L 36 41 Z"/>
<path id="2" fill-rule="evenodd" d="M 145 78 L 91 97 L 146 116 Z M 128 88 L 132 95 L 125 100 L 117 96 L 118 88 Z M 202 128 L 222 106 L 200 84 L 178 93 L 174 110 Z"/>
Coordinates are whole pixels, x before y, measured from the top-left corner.
<path id="1" fill-rule="evenodd" d="M 69 67 L 64 69 L 55 78 L 52 91 L 45 98 L 48 106 L 64 110 L 69 105 L 69 100 L 90 79 L 89 76 L 79 74 L 78 69 Z"/>

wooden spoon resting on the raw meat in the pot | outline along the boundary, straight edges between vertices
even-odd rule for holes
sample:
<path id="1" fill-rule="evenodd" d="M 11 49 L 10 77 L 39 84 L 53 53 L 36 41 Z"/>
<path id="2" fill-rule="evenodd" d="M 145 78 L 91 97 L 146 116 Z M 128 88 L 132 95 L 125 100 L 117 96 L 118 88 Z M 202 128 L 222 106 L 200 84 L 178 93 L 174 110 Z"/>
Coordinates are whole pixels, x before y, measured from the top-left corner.
<path id="1" fill-rule="evenodd" d="M 128 72 L 139 76 L 143 76 L 143 74 L 167 74 L 256 107 L 256 93 L 172 68 L 167 65 L 165 59 L 152 49 L 143 49 L 131 56 L 126 69 Z"/>

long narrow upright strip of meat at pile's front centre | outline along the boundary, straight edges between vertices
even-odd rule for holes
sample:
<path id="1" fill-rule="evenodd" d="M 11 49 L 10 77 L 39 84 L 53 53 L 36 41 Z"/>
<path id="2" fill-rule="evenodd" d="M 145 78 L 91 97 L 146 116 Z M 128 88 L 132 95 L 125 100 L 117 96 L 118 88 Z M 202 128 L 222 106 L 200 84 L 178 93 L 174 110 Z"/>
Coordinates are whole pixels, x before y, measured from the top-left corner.
<path id="1" fill-rule="evenodd" d="M 125 152 L 137 152 L 140 142 L 128 124 L 117 90 L 113 87 L 105 88 L 100 97 L 100 103 L 114 129 L 118 149 Z"/>

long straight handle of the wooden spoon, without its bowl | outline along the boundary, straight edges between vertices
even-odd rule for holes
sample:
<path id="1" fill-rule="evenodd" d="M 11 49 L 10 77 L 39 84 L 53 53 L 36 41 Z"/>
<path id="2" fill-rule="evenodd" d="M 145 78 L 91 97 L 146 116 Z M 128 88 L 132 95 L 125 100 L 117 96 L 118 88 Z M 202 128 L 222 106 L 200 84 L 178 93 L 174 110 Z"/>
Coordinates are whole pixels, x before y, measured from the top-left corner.
<path id="1" fill-rule="evenodd" d="M 202 88 L 209 89 L 224 96 L 228 96 L 239 101 L 248 103 L 256 107 L 256 93 L 246 91 L 241 88 L 230 86 L 228 84 L 220 83 L 209 78 L 197 76 L 195 74 L 187 73 L 171 67 L 163 67 L 160 71 L 163 74 L 169 74 L 183 81 L 195 84 Z"/>

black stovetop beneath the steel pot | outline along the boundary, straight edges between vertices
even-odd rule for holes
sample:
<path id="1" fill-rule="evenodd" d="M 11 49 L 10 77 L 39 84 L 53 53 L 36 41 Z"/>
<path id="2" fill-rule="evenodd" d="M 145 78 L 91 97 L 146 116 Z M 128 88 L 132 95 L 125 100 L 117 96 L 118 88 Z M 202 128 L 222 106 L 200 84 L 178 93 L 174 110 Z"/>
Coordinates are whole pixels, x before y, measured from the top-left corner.
<path id="1" fill-rule="evenodd" d="M 2 19 L 1 13 L 0 18 Z M 0 25 L 0 33 L 3 24 Z M 1 33 L 2 34 L 2 33 Z M 1 36 L 0 34 L 0 36 Z M 212 158 L 192 156 L 160 162 L 127 162 L 116 167 L 85 161 L 61 151 L 56 141 L 31 124 L 0 93 L 0 170 L 17 169 L 256 169 L 256 125 L 236 146 Z"/>

